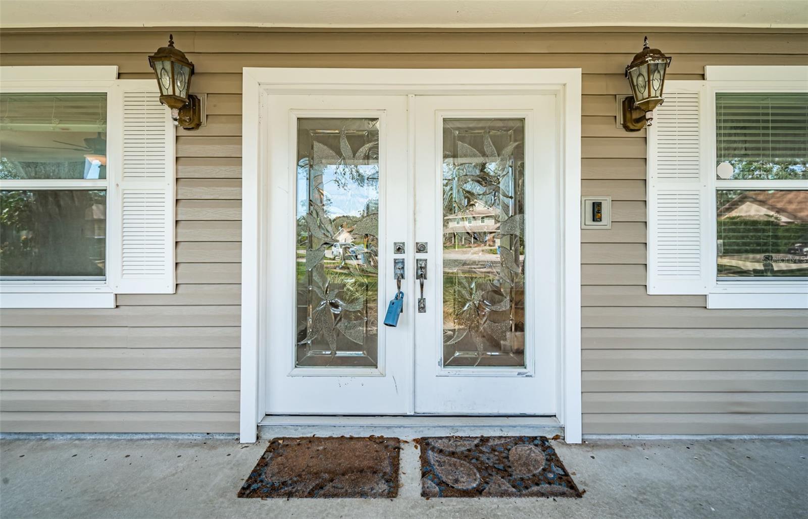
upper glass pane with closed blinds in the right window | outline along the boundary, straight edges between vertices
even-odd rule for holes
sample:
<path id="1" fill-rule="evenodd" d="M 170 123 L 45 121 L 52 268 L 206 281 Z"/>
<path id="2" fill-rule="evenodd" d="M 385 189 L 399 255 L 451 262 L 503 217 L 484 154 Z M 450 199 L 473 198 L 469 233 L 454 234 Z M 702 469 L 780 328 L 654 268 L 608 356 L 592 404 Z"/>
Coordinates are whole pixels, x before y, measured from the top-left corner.
<path id="1" fill-rule="evenodd" d="M 716 94 L 718 180 L 808 180 L 808 93 Z"/>

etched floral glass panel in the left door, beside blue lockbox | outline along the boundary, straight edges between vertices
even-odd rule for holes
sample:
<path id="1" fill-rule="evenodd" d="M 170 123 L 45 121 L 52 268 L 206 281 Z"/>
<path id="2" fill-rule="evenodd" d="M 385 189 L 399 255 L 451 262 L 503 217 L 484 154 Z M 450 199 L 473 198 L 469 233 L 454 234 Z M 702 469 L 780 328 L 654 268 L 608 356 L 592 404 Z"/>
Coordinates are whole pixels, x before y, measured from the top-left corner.
<path id="1" fill-rule="evenodd" d="M 377 366 L 379 174 L 378 119 L 298 119 L 297 366 Z"/>

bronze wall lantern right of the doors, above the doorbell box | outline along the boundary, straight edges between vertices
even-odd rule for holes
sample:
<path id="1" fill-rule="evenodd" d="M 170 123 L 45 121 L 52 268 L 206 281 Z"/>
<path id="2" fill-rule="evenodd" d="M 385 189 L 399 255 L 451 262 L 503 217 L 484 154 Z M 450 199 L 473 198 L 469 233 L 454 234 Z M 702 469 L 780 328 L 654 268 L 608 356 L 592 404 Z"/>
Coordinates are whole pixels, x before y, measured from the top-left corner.
<path id="1" fill-rule="evenodd" d="M 623 128 L 638 132 L 650 126 L 654 108 L 664 101 L 665 72 L 673 58 L 665 56 L 659 48 L 648 48 L 648 36 L 642 51 L 634 55 L 631 65 L 625 68 L 633 96 L 623 99 Z"/>

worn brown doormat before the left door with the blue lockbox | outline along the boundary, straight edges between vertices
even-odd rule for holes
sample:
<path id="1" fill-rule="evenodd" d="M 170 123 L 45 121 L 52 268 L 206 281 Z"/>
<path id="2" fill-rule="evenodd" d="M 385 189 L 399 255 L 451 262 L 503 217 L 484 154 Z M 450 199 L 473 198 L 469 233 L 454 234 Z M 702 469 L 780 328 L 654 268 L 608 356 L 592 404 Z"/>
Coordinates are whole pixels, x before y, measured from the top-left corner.
<path id="1" fill-rule="evenodd" d="M 239 497 L 395 497 L 398 438 L 280 437 L 269 442 Z"/>

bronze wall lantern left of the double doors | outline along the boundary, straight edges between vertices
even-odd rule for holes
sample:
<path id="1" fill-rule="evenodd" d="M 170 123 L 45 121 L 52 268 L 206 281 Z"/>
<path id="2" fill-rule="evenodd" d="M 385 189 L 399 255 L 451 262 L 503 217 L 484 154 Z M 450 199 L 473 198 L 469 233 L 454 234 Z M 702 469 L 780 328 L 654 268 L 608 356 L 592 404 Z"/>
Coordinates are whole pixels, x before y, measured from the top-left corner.
<path id="1" fill-rule="evenodd" d="M 174 35 L 168 36 L 168 47 L 158 48 L 149 56 L 149 66 L 154 69 L 160 86 L 160 103 L 171 109 L 171 119 L 186 130 L 196 130 L 202 124 L 200 98 L 188 94 L 194 64 L 185 57 L 185 52 L 174 47 Z"/>

